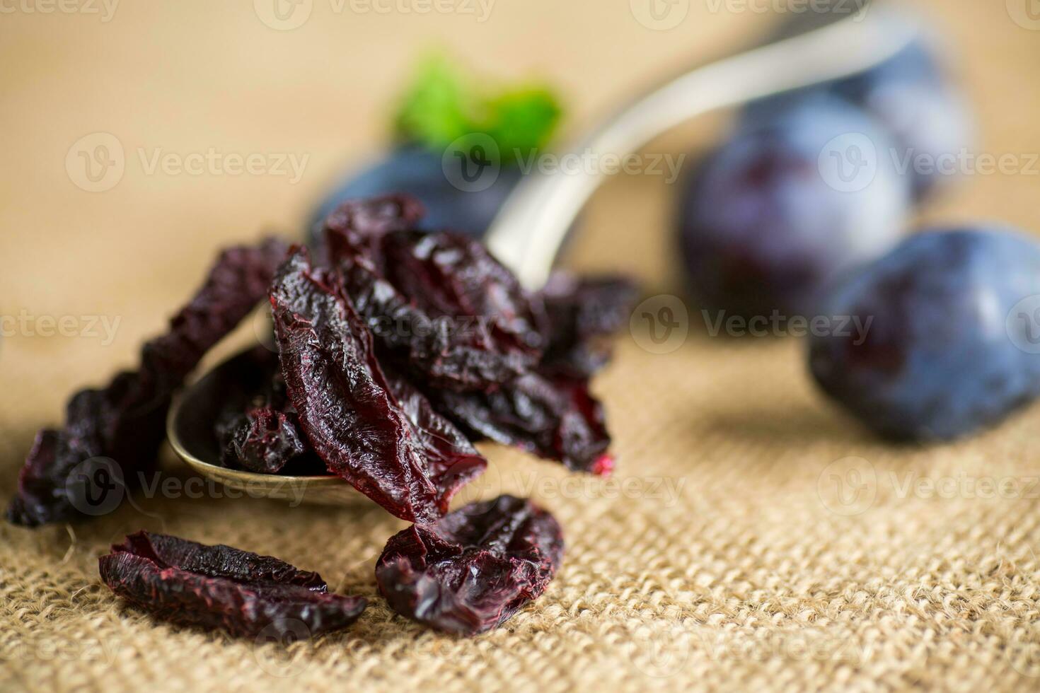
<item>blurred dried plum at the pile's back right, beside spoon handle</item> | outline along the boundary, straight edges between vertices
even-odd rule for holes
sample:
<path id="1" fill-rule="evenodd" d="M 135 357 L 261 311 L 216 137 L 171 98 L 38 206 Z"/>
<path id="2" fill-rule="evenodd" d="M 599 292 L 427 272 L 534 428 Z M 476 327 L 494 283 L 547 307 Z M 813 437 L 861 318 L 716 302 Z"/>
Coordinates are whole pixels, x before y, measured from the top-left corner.
<path id="1" fill-rule="evenodd" d="M 541 370 L 588 378 L 610 361 L 612 336 L 626 322 L 639 288 L 624 276 L 554 272 L 542 290 L 549 340 Z"/>

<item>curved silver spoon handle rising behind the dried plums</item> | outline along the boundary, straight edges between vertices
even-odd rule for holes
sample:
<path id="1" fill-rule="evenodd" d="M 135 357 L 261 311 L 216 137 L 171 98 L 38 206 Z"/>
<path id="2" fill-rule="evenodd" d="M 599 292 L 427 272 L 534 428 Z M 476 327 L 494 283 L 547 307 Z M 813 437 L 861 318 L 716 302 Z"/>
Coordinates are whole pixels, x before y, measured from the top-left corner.
<path id="1" fill-rule="evenodd" d="M 624 158 L 697 115 L 868 70 L 917 33 L 905 17 L 867 5 L 824 28 L 697 68 L 608 118 L 573 151 Z M 545 284 L 568 230 L 605 178 L 595 166 L 579 168 L 532 170 L 488 231 L 492 252 L 530 289 Z"/>

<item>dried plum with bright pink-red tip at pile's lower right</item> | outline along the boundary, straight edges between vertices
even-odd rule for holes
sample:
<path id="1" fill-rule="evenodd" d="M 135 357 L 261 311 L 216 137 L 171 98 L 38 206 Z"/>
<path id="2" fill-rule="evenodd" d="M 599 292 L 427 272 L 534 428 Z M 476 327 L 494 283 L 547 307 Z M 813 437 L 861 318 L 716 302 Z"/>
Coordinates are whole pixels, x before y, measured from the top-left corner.
<path id="1" fill-rule="evenodd" d="M 603 407 L 584 380 L 528 373 L 492 393 L 431 396 L 473 439 L 514 446 L 574 472 L 614 470 Z"/>

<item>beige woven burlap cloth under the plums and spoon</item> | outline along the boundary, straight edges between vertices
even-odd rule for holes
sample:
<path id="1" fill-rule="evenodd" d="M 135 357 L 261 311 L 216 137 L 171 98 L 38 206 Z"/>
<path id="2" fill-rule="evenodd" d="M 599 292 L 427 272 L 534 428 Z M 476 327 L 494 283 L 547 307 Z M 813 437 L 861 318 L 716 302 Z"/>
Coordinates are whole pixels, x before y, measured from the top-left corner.
<path id="1" fill-rule="evenodd" d="M 454 14 L 420 14 L 421 3 L 384 14 L 315 0 L 302 5 L 306 24 L 282 31 L 251 4 L 126 2 L 110 16 L 101 3 L 4 5 L 0 313 L 26 318 L 0 344 L 4 498 L 33 431 L 58 420 L 72 389 L 133 363 L 215 248 L 264 228 L 295 233 L 341 164 L 378 151 L 387 105 L 422 48 L 451 47 L 491 73 L 551 75 L 573 128 L 647 76 L 765 21 L 725 2 L 688 3 L 661 31 L 624 0 L 499 0 L 486 21 L 462 2 L 448 5 Z M 1040 151 L 1040 32 L 1024 2 L 1005 4 L 933 0 L 922 10 L 958 47 L 977 151 L 1028 159 Z M 658 151 L 707 141 L 716 121 Z M 97 132 L 119 139 L 125 171 L 88 192 L 67 156 L 73 148 L 75 168 L 74 142 Z M 211 148 L 309 159 L 295 182 L 150 167 L 157 154 L 176 162 Z M 926 215 L 1040 230 L 1032 172 L 971 176 Z M 677 293 L 670 194 L 657 179 L 612 183 L 569 262 L 627 267 L 651 294 Z M 41 336 L 48 316 L 72 316 L 66 334 L 76 336 Z M 113 339 L 101 318 L 120 321 Z M 223 352 L 250 339 L 246 326 Z M 536 497 L 560 517 L 568 549 L 542 598 L 471 640 L 384 606 L 373 560 L 401 527 L 386 513 L 219 489 L 186 498 L 177 484 L 190 475 L 166 451 L 173 490 L 74 528 L 0 525 L 0 688 L 1036 690 L 1040 411 L 962 444 L 895 448 L 823 401 L 803 362 L 795 340 L 695 328 L 660 355 L 625 335 L 596 383 L 616 432 L 615 482 L 487 448 L 494 470 L 467 496 Z M 97 570 L 111 541 L 141 528 L 279 556 L 371 606 L 355 628 L 287 655 L 154 623 L 122 607 Z"/>

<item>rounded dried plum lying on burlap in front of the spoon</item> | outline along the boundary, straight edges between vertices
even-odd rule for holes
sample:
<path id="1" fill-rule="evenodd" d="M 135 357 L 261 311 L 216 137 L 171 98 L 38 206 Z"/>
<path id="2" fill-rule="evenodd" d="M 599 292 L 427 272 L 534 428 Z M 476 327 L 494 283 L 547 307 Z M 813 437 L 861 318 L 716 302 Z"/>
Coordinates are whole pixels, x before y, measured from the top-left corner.
<path id="1" fill-rule="evenodd" d="M 390 537 L 375 581 L 397 613 L 475 635 L 538 598 L 563 557 L 556 519 L 530 501 L 501 496 Z"/>

